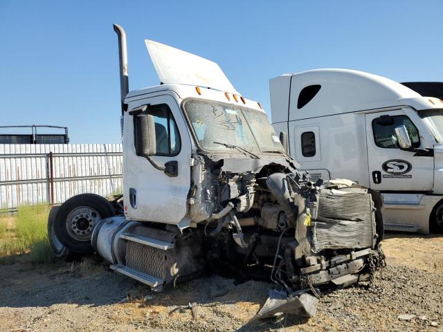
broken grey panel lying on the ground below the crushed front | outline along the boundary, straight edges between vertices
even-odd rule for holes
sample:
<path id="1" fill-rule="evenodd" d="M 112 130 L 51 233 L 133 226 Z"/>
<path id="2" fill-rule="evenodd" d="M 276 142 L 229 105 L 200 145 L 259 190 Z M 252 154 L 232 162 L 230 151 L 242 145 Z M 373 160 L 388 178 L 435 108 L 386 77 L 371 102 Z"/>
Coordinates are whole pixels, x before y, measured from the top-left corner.
<path id="1" fill-rule="evenodd" d="M 317 312 L 318 299 L 306 292 L 296 292 L 287 296 L 287 293 L 271 289 L 269 297 L 258 313 L 252 318 L 255 320 L 264 320 L 284 313 L 297 315 L 298 317 L 314 317 Z"/>

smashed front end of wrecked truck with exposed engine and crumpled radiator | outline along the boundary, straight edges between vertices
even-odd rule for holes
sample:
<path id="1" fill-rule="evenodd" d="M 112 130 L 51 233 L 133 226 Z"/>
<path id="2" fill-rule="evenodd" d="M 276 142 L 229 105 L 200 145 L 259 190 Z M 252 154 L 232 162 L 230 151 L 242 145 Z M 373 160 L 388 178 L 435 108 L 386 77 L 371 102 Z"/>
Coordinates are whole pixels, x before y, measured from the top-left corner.
<path id="1" fill-rule="evenodd" d="M 206 261 L 221 275 L 278 285 L 254 319 L 311 317 L 322 290 L 370 280 L 383 264 L 379 193 L 345 180 L 312 183 L 289 158 L 253 160 L 254 172 L 233 158 L 195 160 L 190 212 L 203 221 L 195 220 Z"/>

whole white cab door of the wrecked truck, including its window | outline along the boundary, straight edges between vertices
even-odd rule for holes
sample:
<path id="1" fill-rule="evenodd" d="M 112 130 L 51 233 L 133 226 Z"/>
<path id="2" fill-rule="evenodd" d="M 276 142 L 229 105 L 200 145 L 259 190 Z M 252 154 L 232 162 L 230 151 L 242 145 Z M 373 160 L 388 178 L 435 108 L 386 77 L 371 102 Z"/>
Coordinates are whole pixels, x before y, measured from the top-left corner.
<path id="1" fill-rule="evenodd" d="M 160 166 L 176 164 L 176 176 L 156 169 L 150 160 L 136 154 L 134 116 L 130 113 L 145 104 L 149 105 L 146 112 L 155 121 L 156 155 L 151 158 Z M 188 210 L 191 142 L 177 101 L 171 95 L 159 95 L 130 102 L 125 112 L 124 145 L 127 218 L 174 224 L 183 221 Z"/>

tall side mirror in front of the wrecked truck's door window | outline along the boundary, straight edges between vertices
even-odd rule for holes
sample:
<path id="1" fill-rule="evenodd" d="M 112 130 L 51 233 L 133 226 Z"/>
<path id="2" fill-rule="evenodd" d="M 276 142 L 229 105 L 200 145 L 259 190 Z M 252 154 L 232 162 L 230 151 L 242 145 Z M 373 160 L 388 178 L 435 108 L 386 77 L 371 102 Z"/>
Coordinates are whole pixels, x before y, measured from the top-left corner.
<path id="1" fill-rule="evenodd" d="M 134 116 L 134 130 L 137 156 L 154 156 L 156 154 L 154 116 L 138 114 Z"/>

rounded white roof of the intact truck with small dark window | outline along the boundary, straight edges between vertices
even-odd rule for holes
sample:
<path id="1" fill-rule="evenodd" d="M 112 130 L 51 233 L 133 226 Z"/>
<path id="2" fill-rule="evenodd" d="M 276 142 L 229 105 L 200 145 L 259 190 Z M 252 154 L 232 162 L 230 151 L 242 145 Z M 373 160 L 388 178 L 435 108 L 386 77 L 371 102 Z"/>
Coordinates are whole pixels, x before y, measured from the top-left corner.
<path id="1" fill-rule="evenodd" d="M 269 89 L 274 123 L 406 105 L 443 108 L 443 101 L 386 77 L 341 68 L 284 74 L 269 80 Z"/>

